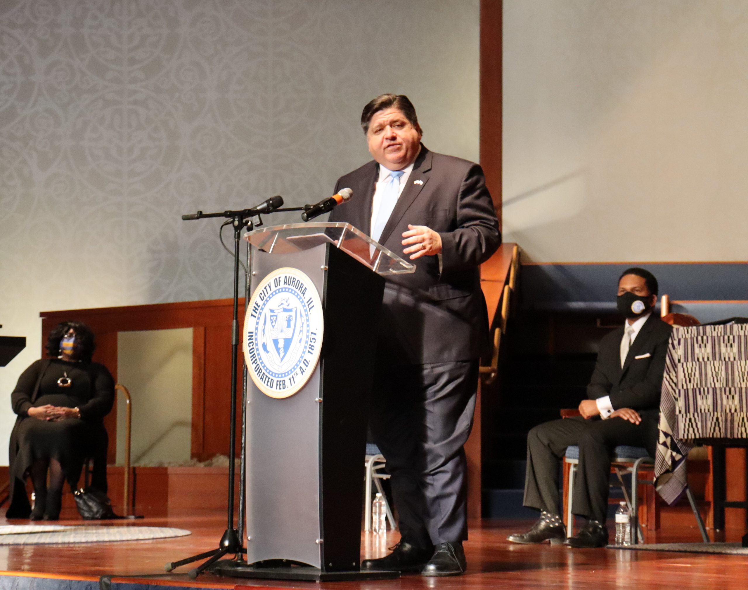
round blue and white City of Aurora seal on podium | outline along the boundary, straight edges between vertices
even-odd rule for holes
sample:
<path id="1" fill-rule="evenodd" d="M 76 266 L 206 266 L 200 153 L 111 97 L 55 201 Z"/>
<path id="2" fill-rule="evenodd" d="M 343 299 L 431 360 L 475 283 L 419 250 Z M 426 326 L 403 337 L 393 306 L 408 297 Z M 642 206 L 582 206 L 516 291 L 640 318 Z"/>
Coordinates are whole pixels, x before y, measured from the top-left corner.
<path id="1" fill-rule="evenodd" d="M 244 320 L 244 357 L 257 389 L 292 396 L 319 360 L 322 301 L 312 280 L 296 268 L 278 268 L 254 289 Z"/>

